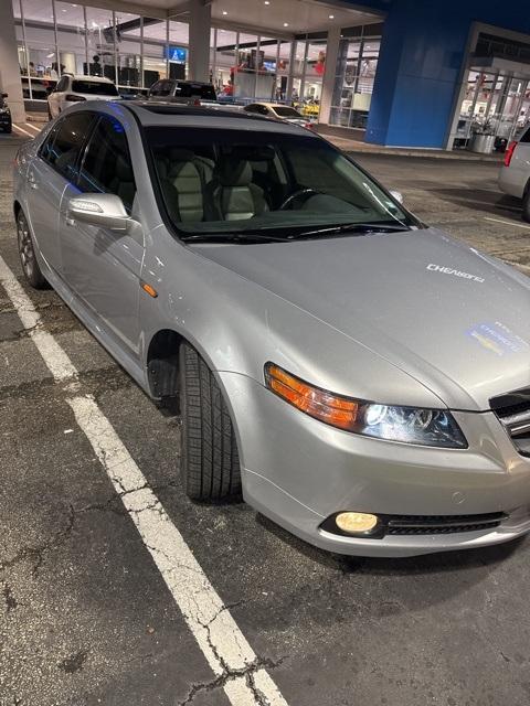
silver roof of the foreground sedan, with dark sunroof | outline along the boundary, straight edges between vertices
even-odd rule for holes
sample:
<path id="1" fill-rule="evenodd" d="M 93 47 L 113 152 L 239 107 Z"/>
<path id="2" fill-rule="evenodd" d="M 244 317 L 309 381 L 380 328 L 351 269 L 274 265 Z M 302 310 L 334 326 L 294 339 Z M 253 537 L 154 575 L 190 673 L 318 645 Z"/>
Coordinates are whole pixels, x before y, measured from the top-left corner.
<path id="1" fill-rule="evenodd" d="M 298 126 L 285 120 L 267 118 L 243 110 L 231 110 L 222 105 L 188 106 L 183 104 L 152 100 L 87 100 L 68 108 L 72 110 L 97 110 L 121 117 L 124 110 L 132 113 L 142 126 L 255 130 L 258 132 L 283 132 L 300 137 Z M 119 115 L 120 114 L 120 115 Z M 304 130 L 304 136 L 321 139 L 318 133 Z"/>

